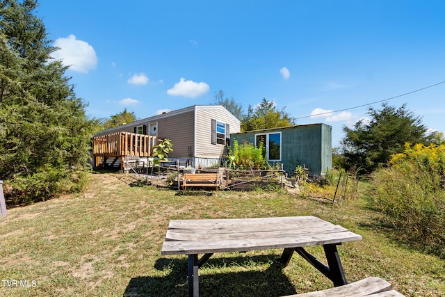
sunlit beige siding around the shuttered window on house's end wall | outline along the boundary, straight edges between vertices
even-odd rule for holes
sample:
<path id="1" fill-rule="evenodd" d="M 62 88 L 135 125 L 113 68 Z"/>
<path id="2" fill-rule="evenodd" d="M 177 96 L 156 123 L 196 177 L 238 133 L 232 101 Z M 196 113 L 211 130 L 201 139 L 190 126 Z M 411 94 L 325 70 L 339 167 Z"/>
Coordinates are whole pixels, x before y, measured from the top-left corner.
<path id="1" fill-rule="evenodd" d="M 202 158 L 224 158 L 226 145 L 211 144 L 211 120 L 229 124 L 229 133 L 240 131 L 240 122 L 222 106 L 198 106 L 196 109 L 196 154 Z M 227 134 L 227 131 L 226 131 Z"/>

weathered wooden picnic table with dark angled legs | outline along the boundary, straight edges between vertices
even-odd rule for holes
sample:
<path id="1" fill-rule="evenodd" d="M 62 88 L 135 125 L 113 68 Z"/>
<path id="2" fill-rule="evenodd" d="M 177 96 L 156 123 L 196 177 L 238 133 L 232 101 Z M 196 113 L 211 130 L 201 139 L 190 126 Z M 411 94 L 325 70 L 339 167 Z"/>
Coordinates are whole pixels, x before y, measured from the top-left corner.
<path id="1" fill-rule="evenodd" d="M 293 252 L 321 271 L 335 287 L 348 284 L 337 245 L 362 236 L 315 216 L 170 220 L 161 255 L 188 255 L 188 296 L 199 296 L 198 268 L 215 252 L 247 252 L 284 248 L 287 265 Z M 324 248 L 328 266 L 305 250 Z M 198 259 L 198 254 L 204 254 Z"/>

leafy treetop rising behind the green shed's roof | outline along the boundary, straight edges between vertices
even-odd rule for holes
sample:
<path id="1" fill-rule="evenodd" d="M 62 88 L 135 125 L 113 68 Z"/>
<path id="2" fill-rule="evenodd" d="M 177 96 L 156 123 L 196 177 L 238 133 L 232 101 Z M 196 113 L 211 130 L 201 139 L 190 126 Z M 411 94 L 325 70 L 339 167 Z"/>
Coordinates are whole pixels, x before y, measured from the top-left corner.
<path id="1" fill-rule="evenodd" d="M 295 125 L 295 118 L 286 113 L 284 109 L 285 107 L 281 110 L 277 109 L 275 102 L 263 98 L 255 109 L 249 106 L 248 115 L 241 122 L 241 130 L 250 131 Z"/>

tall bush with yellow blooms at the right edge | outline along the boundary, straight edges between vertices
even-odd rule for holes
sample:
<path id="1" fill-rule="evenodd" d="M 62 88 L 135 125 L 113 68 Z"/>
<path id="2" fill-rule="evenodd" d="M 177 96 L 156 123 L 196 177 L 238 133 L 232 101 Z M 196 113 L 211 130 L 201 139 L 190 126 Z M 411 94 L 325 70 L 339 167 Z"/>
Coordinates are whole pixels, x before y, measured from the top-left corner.
<path id="1" fill-rule="evenodd" d="M 373 201 L 401 237 L 445 256 L 445 145 L 405 145 L 375 172 Z"/>

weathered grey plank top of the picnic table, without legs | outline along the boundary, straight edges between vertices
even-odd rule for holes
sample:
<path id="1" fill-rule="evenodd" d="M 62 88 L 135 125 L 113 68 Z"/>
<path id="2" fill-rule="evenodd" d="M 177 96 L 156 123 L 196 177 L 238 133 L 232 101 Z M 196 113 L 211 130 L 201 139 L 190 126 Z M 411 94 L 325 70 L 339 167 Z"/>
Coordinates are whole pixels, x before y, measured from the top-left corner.
<path id="1" fill-rule="evenodd" d="M 170 220 L 161 255 L 297 248 L 361 239 L 315 216 Z"/>

